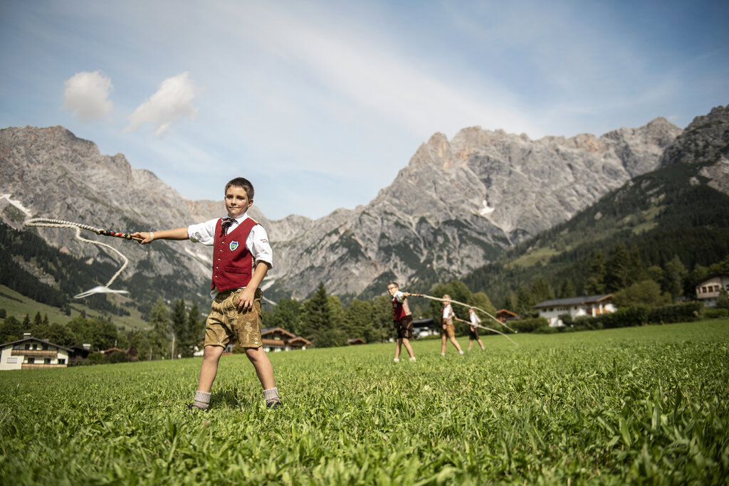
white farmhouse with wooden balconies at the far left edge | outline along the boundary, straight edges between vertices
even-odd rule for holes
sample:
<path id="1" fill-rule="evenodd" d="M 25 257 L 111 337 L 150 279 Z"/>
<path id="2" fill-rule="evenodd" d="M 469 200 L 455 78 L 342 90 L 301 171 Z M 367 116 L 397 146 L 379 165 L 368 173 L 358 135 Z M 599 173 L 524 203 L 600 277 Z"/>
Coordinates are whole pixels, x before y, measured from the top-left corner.
<path id="1" fill-rule="evenodd" d="M 70 348 L 26 333 L 22 340 L 0 345 L 0 370 L 65 368 L 71 353 Z"/>

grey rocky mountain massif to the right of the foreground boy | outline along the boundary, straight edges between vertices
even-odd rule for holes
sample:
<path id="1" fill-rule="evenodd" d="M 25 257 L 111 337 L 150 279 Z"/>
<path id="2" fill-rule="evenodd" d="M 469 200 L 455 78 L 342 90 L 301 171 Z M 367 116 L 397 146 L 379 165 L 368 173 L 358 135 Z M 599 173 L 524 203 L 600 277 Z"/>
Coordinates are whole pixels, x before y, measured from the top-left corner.
<path id="1" fill-rule="evenodd" d="M 324 281 L 335 294 L 357 295 L 391 279 L 456 278 L 658 168 L 681 132 L 657 118 L 600 137 L 533 141 L 475 127 L 449 141 L 436 133 L 367 205 L 271 222 L 279 262 L 271 285 L 303 297 Z"/>

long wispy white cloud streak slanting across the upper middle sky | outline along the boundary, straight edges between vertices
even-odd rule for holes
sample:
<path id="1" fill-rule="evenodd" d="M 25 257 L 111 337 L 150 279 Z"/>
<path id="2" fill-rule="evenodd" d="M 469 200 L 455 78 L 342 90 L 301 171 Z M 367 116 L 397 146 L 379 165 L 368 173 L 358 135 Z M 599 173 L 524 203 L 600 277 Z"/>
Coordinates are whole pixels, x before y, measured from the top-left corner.
<path id="1" fill-rule="evenodd" d="M 398 47 L 401 39 L 387 38 L 376 25 L 362 26 L 311 5 L 300 11 L 247 5 L 245 15 L 242 10 L 233 14 L 244 24 L 236 25 L 242 35 L 283 63 L 305 69 L 331 96 L 400 130 L 423 138 L 467 125 L 536 130 L 515 95 L 496 79 L 451 73 L 447 66 L 434 70 L 432 60 L 408 58 Z"/>

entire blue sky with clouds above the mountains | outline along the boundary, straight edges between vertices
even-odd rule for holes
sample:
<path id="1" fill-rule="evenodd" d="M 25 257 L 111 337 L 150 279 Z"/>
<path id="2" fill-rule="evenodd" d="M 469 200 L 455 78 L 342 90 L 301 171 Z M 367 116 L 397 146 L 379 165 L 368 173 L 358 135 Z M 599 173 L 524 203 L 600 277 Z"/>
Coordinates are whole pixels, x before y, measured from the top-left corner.
<path id="1" fill-rule="evenodd" d="M 601 135 L 729 103 L 725 1 L 0 2 L 0 128 L 63 125 L 190 199 L 366 204 L 435 132 Z"/>

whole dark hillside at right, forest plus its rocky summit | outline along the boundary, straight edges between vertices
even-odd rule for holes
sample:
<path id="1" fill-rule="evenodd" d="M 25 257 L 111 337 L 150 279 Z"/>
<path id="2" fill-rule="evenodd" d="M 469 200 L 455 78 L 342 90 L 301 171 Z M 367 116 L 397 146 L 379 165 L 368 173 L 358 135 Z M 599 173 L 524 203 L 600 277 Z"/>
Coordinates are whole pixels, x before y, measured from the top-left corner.
<path id="1" fill-rule="evenodd" d="M 572 219 L 464 278 L 504 307 L 528 312 L 543 299 L 615 292 L 644 280 L 674 299 L 729 256 L 729 109 L 696 117 L 637 176 Z"/>

